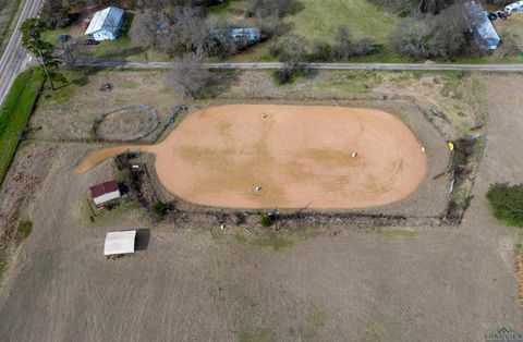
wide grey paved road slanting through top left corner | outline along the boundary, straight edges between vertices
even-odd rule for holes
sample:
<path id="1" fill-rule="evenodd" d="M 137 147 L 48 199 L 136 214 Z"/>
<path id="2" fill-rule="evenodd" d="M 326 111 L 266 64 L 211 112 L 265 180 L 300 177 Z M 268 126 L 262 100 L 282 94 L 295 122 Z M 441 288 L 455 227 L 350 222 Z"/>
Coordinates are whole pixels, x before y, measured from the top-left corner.
<path id="1" fill-rule="evenodd" d="M 38 14 L 42 2 L 44 0 L 25 0 L 23 2 L 22 12 L 16 21 L 16 27 L 0 60 L 0 103 L 3 102 L 9 88 L 13 84 L 16 75 L 22 71 L 24 61 L 27 58 L 27 52 L 21 46 L 22 34 L 19 28 L 26 19 L 34 17 Z"/>

